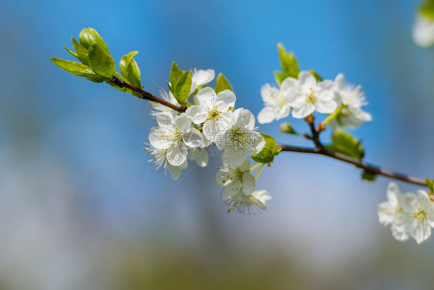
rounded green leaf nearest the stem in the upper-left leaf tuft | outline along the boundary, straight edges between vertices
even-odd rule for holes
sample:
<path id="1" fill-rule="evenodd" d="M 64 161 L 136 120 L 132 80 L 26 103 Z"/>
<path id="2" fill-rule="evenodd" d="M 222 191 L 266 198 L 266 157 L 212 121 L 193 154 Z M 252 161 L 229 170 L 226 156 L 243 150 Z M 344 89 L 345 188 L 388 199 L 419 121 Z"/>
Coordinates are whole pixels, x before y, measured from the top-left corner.
<path id="1" fill-rule="evenodd" d="M 89 46 L 89 66 L 97 74 L 106 79 L 113 77 L 115 72 L 115 60 L 98 44 Z"/>

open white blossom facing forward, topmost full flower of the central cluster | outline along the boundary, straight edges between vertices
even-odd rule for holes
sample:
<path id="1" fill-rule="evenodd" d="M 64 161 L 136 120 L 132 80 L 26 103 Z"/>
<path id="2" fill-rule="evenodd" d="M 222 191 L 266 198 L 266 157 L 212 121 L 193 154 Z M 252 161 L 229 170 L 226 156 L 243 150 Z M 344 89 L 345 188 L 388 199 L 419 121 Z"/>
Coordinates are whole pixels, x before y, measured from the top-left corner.
<path id="1" fill-rule="evenodd" d="M 234 114 L 230 107 L 235 105 L 235 94 L 226 89 L 219 93 L 210 87 L 204 87 L 196 94 L 197 105 L 190 106 L 186 114 L 195 124 L 202 124 L 202 132 L 209 141 L 221 139 L 221 136 L 234 124 Z"/>

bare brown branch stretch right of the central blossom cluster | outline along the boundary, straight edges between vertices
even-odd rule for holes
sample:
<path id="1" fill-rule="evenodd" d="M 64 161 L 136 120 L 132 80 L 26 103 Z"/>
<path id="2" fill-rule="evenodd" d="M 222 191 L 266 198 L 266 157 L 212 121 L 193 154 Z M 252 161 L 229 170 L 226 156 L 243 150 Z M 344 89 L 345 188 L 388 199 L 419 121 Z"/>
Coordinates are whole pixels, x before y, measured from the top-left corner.
<path id="1" fill-rule="evenodd" d="M 378 174 L 386 177 L 390 177 L 393 179 L 413 183 L 416 185 L 426 186 L 425 181 L 423 179 L 401 174 L 395 171 L 391 171 L 388 169 L 384 169 L 378 166 L 370 165 L 368 163 L 365 163 L 361 160 L 357 160 L 351 157 L 348 157 L 346 155 L 336 153 L 329 151 L 325 148 L 305 148 L 305 147 L 295 147 L 295 146 L 289 146 L 285 144 L 277 144 L 278 148 L 282 148 L 282 151 L 288 151 L 288 152 L 299 152 L 299 153 L 310 153 L 310 154 L 318 154 L 318 155 L 324 155 L 328 156 L 349 164 L 353 164 L 354 166 L 363 169 L 365 172 L 372 173 L 372 174 Z"/>

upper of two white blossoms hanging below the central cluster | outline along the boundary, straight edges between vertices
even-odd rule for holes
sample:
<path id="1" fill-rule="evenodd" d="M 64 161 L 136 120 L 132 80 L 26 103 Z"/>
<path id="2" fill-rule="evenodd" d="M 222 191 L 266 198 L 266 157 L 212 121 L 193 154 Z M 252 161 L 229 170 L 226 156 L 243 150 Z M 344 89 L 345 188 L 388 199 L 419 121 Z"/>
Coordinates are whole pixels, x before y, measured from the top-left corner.
<path id="1" fill-rule="evenodd" d="M 249 196 L 255 190 L 256 181 L 250 174 L 250 162 L 244 158 L 244 161 L 238 166 L 230 166 L 227 158 L 222 157 L 223 166 L 215 173 L 215 182 L 225 186 L 222 190 L 222 200 L 227 200 L 242 192 Z"/>

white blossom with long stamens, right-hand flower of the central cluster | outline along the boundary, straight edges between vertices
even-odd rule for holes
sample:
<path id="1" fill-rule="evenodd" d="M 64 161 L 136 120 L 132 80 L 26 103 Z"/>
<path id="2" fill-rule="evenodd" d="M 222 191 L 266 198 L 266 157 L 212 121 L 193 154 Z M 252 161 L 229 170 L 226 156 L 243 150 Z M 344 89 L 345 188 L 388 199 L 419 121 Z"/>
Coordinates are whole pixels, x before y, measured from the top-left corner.
<path id="1" fill-rule="evenodd" d="M 220 144 L 226 146 L 223 154 L 231 166 L 240 165 L 246 156 L 259 153 L 265 146 L 265 139 L 256 132 L 255 116 L 249 110 L 235 110 L 234 119 L 235 124 L 226 131 L 225 141 Z"/>

